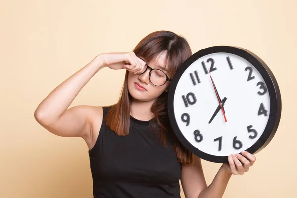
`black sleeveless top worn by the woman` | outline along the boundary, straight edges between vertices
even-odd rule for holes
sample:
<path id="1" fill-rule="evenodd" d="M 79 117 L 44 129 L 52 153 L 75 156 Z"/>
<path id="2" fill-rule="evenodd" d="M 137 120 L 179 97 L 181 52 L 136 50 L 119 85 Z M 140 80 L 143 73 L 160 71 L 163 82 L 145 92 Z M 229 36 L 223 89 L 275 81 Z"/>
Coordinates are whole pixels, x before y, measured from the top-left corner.
<path id="1" fill-rule="evenodd" d="M 89 151 L 94 198 L 180 198 L 181 163 L 149 130 L 152 121 L 130 116 L 129 134 L 118 136 L 105 124 L 108 110 Z"/>

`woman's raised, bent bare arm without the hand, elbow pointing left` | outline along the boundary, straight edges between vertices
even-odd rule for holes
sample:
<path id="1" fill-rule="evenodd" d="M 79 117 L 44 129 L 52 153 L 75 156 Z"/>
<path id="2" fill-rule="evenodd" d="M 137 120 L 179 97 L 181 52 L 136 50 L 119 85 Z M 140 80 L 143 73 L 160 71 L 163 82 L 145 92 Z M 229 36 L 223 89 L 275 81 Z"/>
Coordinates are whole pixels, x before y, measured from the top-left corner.
<path id="1" fill-rule="evenodd" d="M 51 133 L 64 137 L 83 137 L 91 128 L 91 117 L 96 114 L 91 106 L 68 107 L 87 84 L 103 68 L 102 57 L 96 56 L 89 64 L 67 78 L 43 99 L 34 112 L 39 124 Z M 68 110 L 67 110 L 68 109 Z"/>

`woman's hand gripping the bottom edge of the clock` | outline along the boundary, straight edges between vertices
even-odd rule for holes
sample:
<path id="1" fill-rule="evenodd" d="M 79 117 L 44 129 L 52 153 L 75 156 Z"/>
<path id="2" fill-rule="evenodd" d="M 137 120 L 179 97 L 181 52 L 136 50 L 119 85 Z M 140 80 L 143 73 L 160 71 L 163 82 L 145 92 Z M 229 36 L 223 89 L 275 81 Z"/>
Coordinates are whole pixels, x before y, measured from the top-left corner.
<path id="1" fill-rule="evenodd" d="M 252 166 L 256 157 L 247 151 L 241 152 L 241 154 L 236 153 L 235 155 L 228 156 L 228 162 L 222 165 L 222 168 L 232 173 L 233 175 L 243 175 Z"/>

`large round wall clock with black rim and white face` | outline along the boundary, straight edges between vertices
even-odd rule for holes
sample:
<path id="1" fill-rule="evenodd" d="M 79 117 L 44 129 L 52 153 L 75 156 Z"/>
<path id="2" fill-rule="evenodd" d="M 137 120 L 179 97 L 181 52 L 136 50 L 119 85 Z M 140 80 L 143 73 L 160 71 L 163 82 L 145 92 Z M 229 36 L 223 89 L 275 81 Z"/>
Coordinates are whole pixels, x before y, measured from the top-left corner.
<path id="1" fill-rule="evenodd" d="M 247 49 L 213 46 L 190 56 L 168 93 L 169 119 L 181 143 L 207 161 L 267 146 L 281 117 L 281 95 L 268 66 Z"/>

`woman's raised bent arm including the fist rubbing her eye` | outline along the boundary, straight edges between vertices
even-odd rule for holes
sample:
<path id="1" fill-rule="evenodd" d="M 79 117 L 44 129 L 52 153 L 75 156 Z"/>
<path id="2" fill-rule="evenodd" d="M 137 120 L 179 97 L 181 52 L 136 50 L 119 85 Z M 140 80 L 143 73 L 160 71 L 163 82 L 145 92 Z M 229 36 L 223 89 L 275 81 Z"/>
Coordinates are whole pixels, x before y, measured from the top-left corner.
<path id="1" fill-rule="evenodd" d="M 103 111 L 100 107 L 87 105 L 68 109 L 75 97 L 105 66 L 110 69 L 126 68 L 130 72 L 139 72 L 144 69 L 144 65 L 145 62 L 133 52 L 100 54 L 52 90 L 38 105 L 34 117 L 39 124 L 55 135 L 90 139 L 92 128 L 98 130 L 100 124 L 97 122 L 102 119 Z M 96 126 L 92 120 L 96 120 Z"/>

